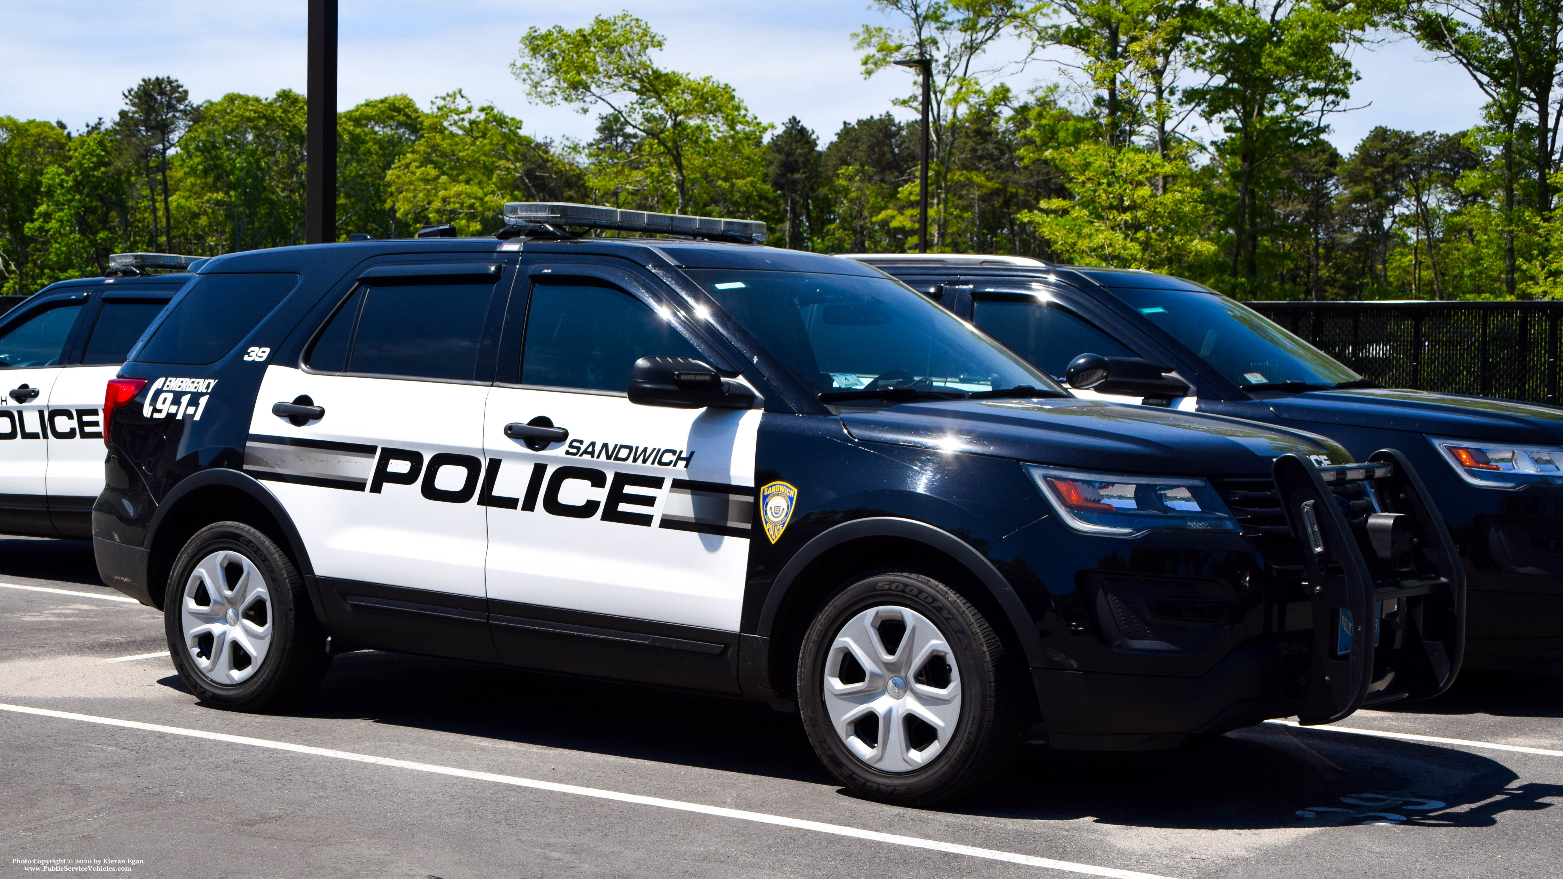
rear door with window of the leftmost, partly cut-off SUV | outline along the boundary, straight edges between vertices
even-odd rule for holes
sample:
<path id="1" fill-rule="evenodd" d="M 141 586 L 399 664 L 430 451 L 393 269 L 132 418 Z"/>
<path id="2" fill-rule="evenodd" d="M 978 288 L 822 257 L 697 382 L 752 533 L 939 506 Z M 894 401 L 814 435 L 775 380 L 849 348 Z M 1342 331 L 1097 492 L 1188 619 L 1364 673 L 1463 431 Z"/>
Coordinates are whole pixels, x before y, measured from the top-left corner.
<path id="1" fill-rule="evenodd" d="M 173 297 L 167 289 L 108 289 L 86 308 L 81 330 L 48 391 L 50 518 L 63 536 L 91 536 L 92 502 L 103 491 L 103 389 L 131 346 Z"/>

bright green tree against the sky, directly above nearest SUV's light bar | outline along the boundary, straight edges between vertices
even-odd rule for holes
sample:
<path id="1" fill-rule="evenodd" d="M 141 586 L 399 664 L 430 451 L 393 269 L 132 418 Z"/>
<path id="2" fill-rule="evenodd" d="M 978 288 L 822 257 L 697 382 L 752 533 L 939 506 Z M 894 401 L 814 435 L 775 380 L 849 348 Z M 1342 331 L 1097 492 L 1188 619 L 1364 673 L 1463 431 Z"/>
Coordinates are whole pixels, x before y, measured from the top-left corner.
<path id="1" fill-rule="evenodd" d="M 752 202 L 767 189 L 767 127 L 731 86 L 658 67 L 652 53 L 663 45 L 628 13 L 577 30 L 533 27 L 511 72 L 538 103 L 603 108 L 611 136 L 588 153 L 594 191 L 631 192 L 638 205 L 680 214 Z"/>

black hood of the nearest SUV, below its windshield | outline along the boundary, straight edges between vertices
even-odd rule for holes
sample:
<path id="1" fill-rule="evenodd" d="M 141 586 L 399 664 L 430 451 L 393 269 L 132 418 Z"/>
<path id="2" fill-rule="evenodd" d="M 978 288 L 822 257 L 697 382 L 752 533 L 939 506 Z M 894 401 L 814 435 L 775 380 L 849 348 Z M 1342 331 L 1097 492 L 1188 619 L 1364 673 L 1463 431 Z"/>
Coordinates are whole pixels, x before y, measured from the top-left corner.
<path id="1" fill-rule="evenodd" d="M 857 440 L 1157 475 L 1269 475 L 1286 452 L 1350 463 L 1333 440 L 1222 418 L 1082 399 L 947 400 L 844 411 Z"/>

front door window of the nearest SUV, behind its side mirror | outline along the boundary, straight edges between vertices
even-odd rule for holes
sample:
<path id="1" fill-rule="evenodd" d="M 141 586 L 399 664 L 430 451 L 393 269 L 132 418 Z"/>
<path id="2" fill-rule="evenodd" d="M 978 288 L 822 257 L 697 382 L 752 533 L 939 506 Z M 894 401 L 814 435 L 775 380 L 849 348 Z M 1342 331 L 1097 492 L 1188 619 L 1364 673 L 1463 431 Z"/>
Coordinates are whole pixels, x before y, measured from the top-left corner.
<path id="1" fill-rule="evenodd" d="M 700 352 L 624 291 L 589 282 L 533 285 L 522 385 L 622 393 L 642 357 L 700 358 Z"/>

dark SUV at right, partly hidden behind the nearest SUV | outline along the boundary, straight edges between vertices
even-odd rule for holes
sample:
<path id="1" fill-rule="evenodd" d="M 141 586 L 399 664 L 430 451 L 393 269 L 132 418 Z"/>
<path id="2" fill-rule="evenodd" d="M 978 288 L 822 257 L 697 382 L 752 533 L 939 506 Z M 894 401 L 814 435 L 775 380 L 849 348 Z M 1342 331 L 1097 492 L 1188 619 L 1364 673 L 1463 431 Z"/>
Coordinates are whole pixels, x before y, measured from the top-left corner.
<path id="1" fill-rule="evenodd" d="M 1563 410 L 1379 388 L 1263 314 L 1168 275 L 975 255 L 857 255 L 1078 396 L 1400 449 L 1427 480 L 1471 588 L 1466 668 L 1563 665 Z M 1093 358 L 1088 358 L 1093 360 Z"/>

